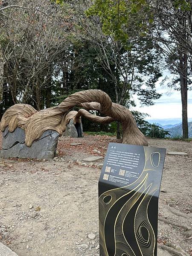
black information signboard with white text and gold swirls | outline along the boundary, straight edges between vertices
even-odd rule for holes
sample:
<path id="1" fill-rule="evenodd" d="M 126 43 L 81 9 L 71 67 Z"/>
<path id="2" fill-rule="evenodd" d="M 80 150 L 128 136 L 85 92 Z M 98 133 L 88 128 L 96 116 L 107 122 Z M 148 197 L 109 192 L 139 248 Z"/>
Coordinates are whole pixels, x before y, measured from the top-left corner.
<path id="1" fill-rule="evenodd" d="M 157 256 L 166 149 L 109 143 L 99 179 L 100 256 Z"/>

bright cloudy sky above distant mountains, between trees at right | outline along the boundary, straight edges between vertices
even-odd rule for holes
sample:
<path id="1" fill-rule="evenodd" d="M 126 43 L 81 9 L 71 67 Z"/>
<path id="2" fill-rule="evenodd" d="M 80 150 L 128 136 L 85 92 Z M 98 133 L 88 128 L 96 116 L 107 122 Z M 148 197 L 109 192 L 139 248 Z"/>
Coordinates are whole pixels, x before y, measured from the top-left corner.
<path id="1" fill-rule="evenodd" d="M 132 110 L 137 110 L 142 113 L 148 113 L 150 116 L 147 119 L 181 119 L 182 105 L 180 91 L 169 91 L 168 88 L 160 86 L 157 83 L 157 92 L 163 93 L 160 99 L 155 101 L 153 106 L 140 107 L 139 101 L 136 99 L 137 107 Z M 188 91 L 188 117 L 192 118 L 192 91 Z"/>

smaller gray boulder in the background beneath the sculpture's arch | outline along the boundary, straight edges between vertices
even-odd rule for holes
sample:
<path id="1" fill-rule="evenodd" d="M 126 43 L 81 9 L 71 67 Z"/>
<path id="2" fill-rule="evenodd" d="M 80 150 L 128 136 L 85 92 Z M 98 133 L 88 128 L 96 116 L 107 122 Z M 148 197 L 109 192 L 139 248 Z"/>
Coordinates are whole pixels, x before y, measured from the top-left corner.
<path id="1" fill-rule="evenodd" d="M 63 136 L 70 136 L 73 138 L 83 137 L 82 123 L 76 123 L 76 125 L 74 125 L 73 120 L 71 119 L 69 124 L 66 126 Z"/>

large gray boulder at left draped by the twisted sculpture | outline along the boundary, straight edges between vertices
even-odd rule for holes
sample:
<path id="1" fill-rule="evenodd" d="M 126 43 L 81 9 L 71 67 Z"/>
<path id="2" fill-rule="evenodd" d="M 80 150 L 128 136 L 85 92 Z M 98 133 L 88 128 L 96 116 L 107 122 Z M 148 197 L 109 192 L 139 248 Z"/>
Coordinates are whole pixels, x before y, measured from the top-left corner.
<path id="1" fill-rule="evenodd" d="M 50 160 L 55 157 L 58 137 L 58 132 L 48 130 L 37 141 L 34 141 L 31 147 L 28 147 L 25 145 L 25 131 L 23 129 L 16 128 L 14 132 L 9 132 L 7 127 L 3 131 L 0 156 Z"/>

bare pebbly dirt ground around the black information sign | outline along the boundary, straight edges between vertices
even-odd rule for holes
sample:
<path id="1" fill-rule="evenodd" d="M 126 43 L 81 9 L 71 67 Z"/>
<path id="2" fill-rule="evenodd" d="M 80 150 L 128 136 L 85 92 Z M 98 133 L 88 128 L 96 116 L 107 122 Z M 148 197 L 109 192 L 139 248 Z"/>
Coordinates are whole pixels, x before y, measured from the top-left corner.
<path id="1" fill-rule="evenodd" d="M 62 162 L 1 159 L 0 242 L 19 256 L 99 256 L 100 169 L 69 162 L 105 155 L 111 140 L 116 142 L 109 137 L 61 138 L 58 153 Z M 77 141 L 82 145 L 70 145 Z M 187 253 L 183 256 L 192 255 L 192 143 L 149 143 L 189 154 L 166 156 L 158 241 L 183 250 Z M 96 238 L 92 234 L 90 239 L 91 233 Z"/>

